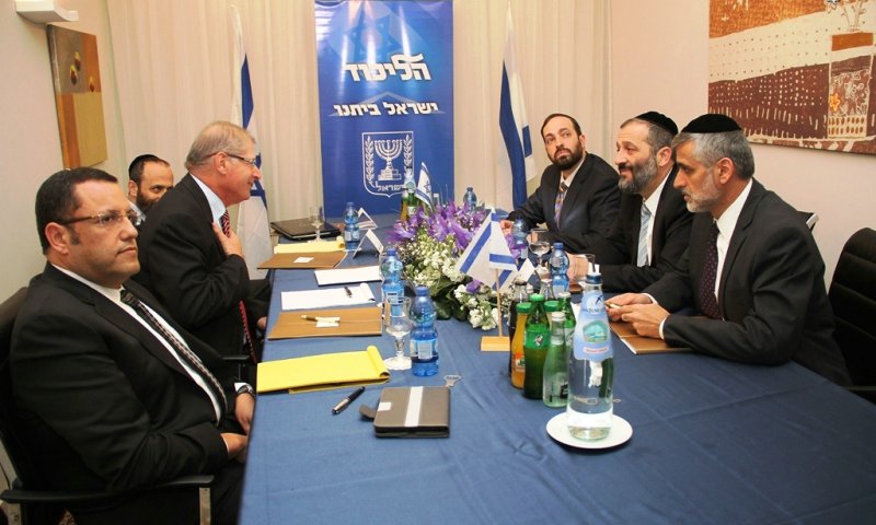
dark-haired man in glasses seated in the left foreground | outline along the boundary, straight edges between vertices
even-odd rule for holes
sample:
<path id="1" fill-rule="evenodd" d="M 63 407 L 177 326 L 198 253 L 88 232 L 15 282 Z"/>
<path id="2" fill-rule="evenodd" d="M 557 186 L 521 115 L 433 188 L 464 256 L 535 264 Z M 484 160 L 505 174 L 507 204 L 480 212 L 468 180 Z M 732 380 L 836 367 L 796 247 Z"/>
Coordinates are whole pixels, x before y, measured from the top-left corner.
<path id="1" fill-rule="evenodd" d="M 47 264 L 19 313 L 10 370 L 15 428 L 42 483 L 123 493 L 72 505 L 78 523 L 193 523 L 173 494 L 136 489 L 215 474 L 215 520 L 234 523 L 254 398 L 128 280 L 140 266 L 137 214 L 117 179 L 58 172 L 37 191 L 36 215 Z"/>

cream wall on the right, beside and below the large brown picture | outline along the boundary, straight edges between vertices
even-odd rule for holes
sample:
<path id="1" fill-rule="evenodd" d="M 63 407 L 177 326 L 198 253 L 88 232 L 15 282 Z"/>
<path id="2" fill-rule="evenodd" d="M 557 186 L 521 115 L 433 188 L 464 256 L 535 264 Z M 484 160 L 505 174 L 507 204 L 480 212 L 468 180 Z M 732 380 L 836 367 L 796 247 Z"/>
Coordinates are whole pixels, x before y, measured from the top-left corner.
<path id="1" fill-rule="evenodd" d="M 708 2 L 612 0 L 614 128 L 648 109 L 679 127 L 708 106 Z M 830 282 L 845 241 L 876 228 L 876 156 L 752 144 L 754 176 L 821 220 L 815 238 Z"/>

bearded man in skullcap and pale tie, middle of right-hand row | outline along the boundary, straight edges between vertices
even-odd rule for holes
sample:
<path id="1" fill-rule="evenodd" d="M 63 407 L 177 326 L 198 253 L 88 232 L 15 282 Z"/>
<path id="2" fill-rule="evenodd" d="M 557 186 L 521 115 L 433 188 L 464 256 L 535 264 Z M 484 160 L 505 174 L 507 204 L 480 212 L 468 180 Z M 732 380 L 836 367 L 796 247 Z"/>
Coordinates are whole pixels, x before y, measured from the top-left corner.
<path id="1" fill-rule="evenodd" d="M 621 175 L 621 211 L 609 234 L 589 248 L 607 291 L 644 290 L 688 248 L 693 215 L 672 187 L 678 168 L 671 143 L 677 133 L 676 122 L 657 112 L 621 125 L 614 160 Z M 575 269 L 569 271 L 574 275 Z"/>

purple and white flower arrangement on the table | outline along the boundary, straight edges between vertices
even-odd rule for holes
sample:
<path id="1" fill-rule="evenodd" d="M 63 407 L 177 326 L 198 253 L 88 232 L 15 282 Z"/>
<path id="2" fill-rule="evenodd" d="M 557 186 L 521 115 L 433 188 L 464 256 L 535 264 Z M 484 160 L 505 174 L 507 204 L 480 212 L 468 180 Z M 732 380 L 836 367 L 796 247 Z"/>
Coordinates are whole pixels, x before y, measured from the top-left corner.
<path id="1" fill-rule="evenodd" d="M 466 319 L 475 328 L 496 327 L 496 292 L 472 281 L 457 269 L 457 260 L 471 243 L 488 212 L 470 211 L 454 202 L 420 208 L 406 221 L 395 221 L 387 237 L 404 264 L 404 278 L 412 285 L 425 285 L 438 318 Z"/>

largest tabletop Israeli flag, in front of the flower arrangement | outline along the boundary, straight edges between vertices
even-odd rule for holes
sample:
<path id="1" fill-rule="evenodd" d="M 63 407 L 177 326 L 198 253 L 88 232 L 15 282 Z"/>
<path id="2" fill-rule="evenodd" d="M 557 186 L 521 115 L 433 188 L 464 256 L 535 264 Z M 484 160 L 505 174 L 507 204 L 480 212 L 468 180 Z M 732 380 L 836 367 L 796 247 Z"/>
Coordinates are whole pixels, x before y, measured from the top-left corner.
<path id="1" fill-rule="evenodd" d="M 457 269 L 492 287 L 496 284 L 498 270 L 498 288 L 514 281 L 517 275 L 517 261 L 511 256 L 505 235 L 502 234 L 496 210 L 491 210 L 489 220 L 484 221 L 475 232 L 472 242 L 457 261 Z"/>

